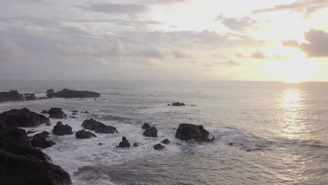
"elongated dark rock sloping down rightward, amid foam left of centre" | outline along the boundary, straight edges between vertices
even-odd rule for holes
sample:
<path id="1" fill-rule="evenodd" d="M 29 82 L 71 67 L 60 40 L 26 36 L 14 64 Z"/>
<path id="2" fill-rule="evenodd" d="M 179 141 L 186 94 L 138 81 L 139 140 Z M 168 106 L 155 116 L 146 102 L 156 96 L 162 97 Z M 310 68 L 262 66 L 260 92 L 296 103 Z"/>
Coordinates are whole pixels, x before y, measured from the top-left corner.
<path id="1" fill-rule="evenodd" d="M 97 133 L 105 133 L 105 134 L 118 133 L 116 128 L 95 121 L 93 118 L 83 121 L 82 127 L 86 130 L 94 130 Z"/>

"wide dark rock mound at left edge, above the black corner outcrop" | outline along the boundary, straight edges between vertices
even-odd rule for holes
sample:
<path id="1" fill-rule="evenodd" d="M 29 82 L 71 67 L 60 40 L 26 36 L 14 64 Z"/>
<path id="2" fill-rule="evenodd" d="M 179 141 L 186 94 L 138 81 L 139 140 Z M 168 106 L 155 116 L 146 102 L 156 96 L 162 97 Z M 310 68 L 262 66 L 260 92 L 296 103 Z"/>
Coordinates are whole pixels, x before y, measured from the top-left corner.
<path id="1" fill-rule="evenodd" d="M 5 111 L 0 114 L 0 119 L 7 127 L 36 127 L 50 122 L 46 116 L 29 111 L 27 108 Z"/>

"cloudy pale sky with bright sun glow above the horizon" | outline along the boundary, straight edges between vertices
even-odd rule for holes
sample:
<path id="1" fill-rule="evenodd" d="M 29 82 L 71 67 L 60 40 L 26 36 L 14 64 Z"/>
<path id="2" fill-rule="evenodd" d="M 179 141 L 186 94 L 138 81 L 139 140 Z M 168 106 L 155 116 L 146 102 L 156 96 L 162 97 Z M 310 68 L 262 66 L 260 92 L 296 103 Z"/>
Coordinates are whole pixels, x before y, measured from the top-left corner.
<path id="1" fill-rule="evenodd" d="M 1 0 L 0 79 L 328 81 L 327 0 Z"/>

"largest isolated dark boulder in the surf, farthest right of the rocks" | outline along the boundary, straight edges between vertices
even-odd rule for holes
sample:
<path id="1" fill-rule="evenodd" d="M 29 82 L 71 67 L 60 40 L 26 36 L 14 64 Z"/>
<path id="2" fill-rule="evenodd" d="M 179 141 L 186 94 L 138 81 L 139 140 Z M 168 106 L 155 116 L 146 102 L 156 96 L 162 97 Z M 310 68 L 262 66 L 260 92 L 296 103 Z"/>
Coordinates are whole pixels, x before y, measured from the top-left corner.
<path id="1" fill-rule="evenodd" d="M 212 142 L 214 138 L 208 139 L 210 133 L 203 125 L 192 125 L 182 123 L 179 125 L 175 137 L 182 140 L 194 139 L 196 142 Z"/>

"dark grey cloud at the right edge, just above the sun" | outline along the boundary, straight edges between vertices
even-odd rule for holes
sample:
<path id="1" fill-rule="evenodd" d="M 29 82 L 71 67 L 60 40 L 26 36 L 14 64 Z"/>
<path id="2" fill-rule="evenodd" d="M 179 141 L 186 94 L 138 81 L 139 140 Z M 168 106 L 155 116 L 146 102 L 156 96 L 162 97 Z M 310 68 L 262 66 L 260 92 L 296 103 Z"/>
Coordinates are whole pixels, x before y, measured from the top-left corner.
<path id="1" fill-rule="evenodd" d="M 308 57 L 328 57 L 328 33 L 311 29 L 304 33 L 304 37 L 308 43 L 297 43 L 294 40 L 283 41 L 282 45 L 291 48 L 298 48 L 305 52 Z"/>

